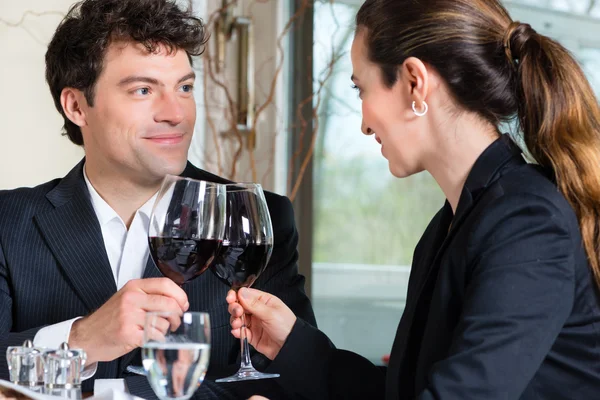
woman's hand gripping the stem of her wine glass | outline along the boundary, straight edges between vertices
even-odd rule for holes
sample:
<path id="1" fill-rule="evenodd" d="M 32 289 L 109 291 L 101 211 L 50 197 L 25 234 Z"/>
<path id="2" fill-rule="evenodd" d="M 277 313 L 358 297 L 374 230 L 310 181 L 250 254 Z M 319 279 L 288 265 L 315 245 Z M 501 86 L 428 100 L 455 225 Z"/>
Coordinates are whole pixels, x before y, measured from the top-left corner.
<path id="1" fill-rule="evenodd" d="M 246 312 L 246 335 L 258 352 L 273 360 L 292 331 L 296 316 L 279 298 L 256 289 L 241 288 L 227 293 L 231 333 L 239 339 L 241 316 Z"/>

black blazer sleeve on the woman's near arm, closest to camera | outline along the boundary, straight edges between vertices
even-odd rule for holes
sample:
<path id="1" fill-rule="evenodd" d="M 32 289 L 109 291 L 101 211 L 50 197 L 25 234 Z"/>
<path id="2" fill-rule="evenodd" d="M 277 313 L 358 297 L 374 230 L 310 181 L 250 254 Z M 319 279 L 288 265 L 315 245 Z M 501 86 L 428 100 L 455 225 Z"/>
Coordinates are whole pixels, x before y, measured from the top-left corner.
<path id="1" fill-rule="evenodd" d="M 484 214 L 469 240 L 452 346 L 434 364 L 421 400 L 520 398 L 573 306 L 577 234 L 561 209 L 514 194 Z"/>

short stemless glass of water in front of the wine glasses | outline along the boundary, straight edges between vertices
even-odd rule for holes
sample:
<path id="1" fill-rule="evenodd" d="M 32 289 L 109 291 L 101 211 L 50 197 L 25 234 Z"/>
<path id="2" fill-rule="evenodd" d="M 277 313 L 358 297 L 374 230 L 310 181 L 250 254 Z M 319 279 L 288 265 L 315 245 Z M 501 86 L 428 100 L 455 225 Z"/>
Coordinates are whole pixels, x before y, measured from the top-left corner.
<path id="1" fill-rule="evenodd" d="M 148 312 L 142 363 L 161 400 L 187 400 L 204 381 L 210 360 L 207 313 Z"/>

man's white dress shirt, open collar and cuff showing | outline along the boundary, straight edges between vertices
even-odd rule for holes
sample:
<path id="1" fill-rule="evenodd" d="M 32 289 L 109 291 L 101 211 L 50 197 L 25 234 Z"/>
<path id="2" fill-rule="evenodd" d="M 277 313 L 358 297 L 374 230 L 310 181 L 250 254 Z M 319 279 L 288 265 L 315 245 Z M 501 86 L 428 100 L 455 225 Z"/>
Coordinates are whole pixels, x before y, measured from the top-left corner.
<path id="1" fill-rule="evenodd" d="M 127 226 L 119 215 L 98 194 L 90 183 L 83 168 L 83 177 L 90 192 L 90 200 L 100 223 L 102 238 L 108 255 L 108 261 L 115 277 L 117 290 L 121 289 L 131 279 L 140 279 L 144 275 L 146 261 L 150 254 L 148 248 L 148 226 L 150 214 L 156 200 L 156 194 L 150 198 L 135 213 L 133 221 Z M 90 266 L 91 267 L 91 266 Z M 81 317 L 40 329 L 33 343 L 39 347 L 58 348 L 61 343 L 68 342 L 73 322 Z M 82 379 L 92 377 L 96 373 L 97 364 L 86 366 Z"/>

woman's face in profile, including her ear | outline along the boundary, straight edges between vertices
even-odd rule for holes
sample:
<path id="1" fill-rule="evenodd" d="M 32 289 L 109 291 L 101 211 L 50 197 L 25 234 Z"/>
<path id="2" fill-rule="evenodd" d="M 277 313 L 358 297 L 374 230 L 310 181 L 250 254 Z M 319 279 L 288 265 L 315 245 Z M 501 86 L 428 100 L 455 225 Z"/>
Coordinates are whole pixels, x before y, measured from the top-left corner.
<path id="1" fill-rule="evenodd" d="M 365 30 L 359 29 L 352 43 L 352 80 L 362 100 L 362 127 L 365 135 L 374 135 L 381 144 L 381 154 L 399 178 L 423 171 L 428 138 L 425 117 L 412 110 L 418 79 L 405 66 L 398 80 L 389 88 L 380 68 L 369 61 Z M 422 105 L 417 102 L 417 111 Z"/>

